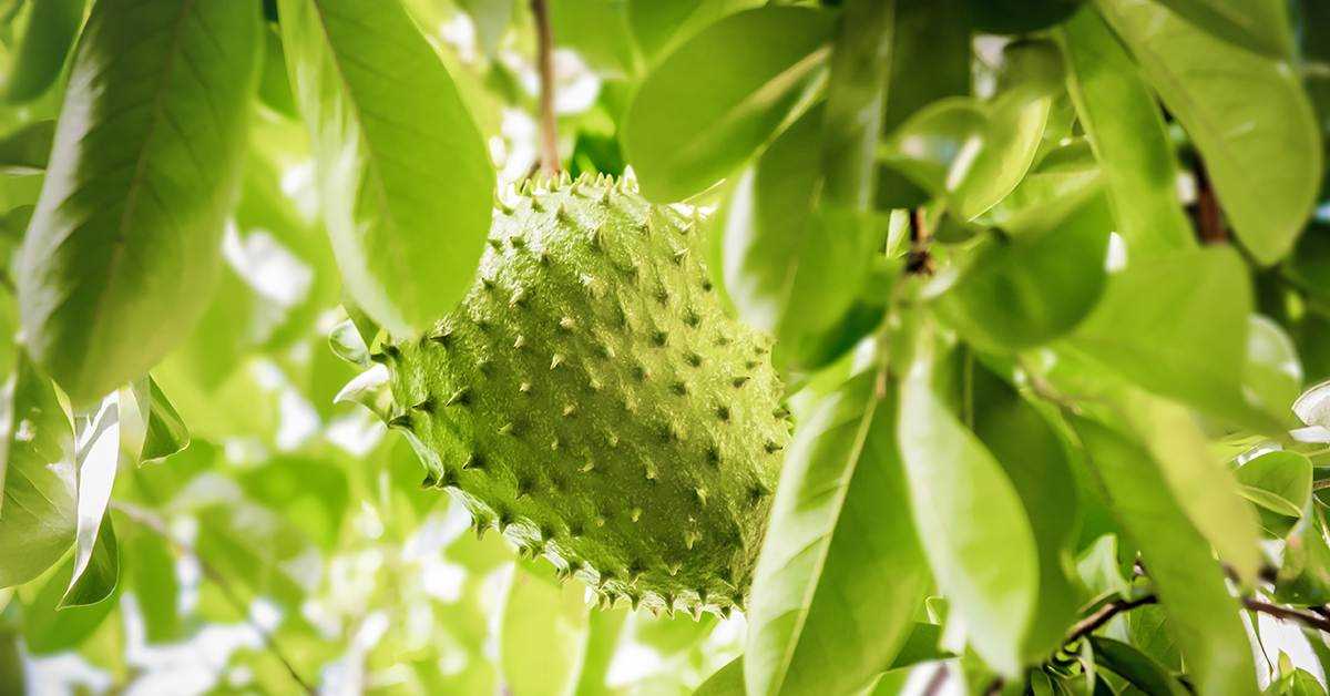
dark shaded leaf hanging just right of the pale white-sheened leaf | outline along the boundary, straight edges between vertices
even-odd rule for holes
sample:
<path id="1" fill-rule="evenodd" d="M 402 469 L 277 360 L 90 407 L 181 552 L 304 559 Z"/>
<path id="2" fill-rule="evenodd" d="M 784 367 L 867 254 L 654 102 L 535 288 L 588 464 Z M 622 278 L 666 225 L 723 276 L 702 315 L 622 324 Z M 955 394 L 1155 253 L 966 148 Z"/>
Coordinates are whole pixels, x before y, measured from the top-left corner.
<path id="1" fill-rule="evenodd" d="M 1045 415 L 986 366 L 968 369 L 975 435 L 1007 472 L 1035 532 L 1039 594 L 1021 651 L 1027 663 L 1037 663 L 1061 645 L 1080 609 L 1069 580 L 1080 522 L 1076 479 Z"/>

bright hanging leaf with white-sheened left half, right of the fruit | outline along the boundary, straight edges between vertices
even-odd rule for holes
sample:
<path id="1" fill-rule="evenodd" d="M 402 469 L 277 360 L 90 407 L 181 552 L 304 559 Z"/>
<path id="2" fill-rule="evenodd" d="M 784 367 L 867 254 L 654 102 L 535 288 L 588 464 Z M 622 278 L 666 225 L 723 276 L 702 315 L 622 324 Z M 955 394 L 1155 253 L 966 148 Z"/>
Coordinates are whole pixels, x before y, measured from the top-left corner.
<path id="1" fill-rule="evenodd" d="M 1037 602 L 1035 535 L 1001 466 L 934 391 L 938 349 L 926 337 L 918 350 L 898 426 L 915 527 L 970 645 L 994 669 L 1016 675 Z"/>

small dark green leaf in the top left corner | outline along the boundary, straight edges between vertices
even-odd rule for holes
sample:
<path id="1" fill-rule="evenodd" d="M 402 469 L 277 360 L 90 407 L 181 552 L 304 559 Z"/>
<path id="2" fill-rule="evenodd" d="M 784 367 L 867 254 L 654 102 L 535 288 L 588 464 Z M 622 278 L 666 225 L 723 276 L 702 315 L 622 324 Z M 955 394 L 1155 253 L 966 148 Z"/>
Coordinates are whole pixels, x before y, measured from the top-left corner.
<path id="1" fill-rule="evenodd" d="M 56 81 L 78 35 L 82 11 L 84 0 L 32 3 L 28 27 L 4 81 L 5 101 L 32 101 Z"/>

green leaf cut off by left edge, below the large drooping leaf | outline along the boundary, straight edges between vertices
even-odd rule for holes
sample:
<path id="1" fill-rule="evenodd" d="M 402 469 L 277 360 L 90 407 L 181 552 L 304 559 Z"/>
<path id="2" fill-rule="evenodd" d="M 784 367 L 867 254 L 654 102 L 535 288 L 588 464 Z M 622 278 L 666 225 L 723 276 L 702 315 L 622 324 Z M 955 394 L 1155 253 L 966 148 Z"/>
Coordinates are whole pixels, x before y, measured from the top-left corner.
<path id="1" fill-rule="evenodd" d="M 74 436 L 51 381 L 20 353 L 5 389 L 0 587 L 49 568 L 74 540 Z"/>

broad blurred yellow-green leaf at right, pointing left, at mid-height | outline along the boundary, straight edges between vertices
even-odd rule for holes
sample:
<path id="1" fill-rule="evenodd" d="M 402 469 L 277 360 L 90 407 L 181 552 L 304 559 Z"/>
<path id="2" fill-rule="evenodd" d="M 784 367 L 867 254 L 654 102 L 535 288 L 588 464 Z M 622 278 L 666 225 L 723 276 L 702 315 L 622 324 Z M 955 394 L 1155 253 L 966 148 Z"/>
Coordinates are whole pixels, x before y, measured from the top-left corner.
<path id="1" fill-rule="evenodd" d="M 1267 417 L 1250 413 L 1240 385 L 1250 313 L 1246 267 L 1232 249 L 1141 258 L 1109 275 L 1103 299 L 1069 342 L 1148 390 L 1269 429 Z"/>

